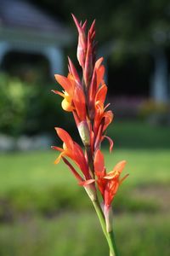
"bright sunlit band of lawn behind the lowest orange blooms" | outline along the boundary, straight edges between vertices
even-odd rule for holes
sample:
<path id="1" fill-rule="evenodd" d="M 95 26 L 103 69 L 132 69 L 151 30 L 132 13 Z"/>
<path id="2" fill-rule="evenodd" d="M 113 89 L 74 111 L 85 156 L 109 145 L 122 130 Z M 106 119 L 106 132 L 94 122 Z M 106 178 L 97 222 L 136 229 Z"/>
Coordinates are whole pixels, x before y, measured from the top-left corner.
<path id="1" fill-rule="evenodd" d="M 130 177 L 125 186 L 146 183 L 170 183 L 170 149 L 116 149 L 105 150 L 108 171 L 119 160 L 127 160 L 125 172 Z M 54 151 L 0 154 L 0 192 L 15 188 L 46 189 L 62 186 L 75 187 L 76 180 L 63 163 L 53 164 L 58 153 Z M 69 188 L 70 189 L 70 188 Z"/>

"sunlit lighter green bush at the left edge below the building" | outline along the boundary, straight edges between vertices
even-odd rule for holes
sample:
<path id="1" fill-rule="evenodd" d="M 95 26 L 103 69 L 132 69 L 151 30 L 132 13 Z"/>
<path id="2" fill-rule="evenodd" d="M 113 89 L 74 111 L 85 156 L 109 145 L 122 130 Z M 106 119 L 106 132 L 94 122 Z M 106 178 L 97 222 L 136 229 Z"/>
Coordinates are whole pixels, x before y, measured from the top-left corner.
<path id="1" fill-rule="evenodd" d="M 24 90 L 19 79 L 9 79 L 1 73 L 0 90 L 0 130 L 4 133 L 19 133 L 26 118 L 28 88 Z"/>

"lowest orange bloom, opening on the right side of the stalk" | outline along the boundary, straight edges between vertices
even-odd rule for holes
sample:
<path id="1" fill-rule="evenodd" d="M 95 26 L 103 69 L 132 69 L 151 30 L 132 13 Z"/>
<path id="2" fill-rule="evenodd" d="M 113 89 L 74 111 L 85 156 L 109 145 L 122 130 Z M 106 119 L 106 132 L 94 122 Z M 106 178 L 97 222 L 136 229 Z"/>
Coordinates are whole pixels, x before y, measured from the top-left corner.
<path id="1" fill-rule="evenodd" d="M 122 160 L 121 162 L 116 164 L 111 172 L 106 173 L 104 155 L 99 149 L 94 155 L 95 175 L 98 177 L 97 183 L 101 195 L 103 196 L 105 207 L 111 206 L 111 202 L 116 195 L 116 191 L 119 188 L 119 185 L 128 176 L 127 174 L 125 177 L 120 178 L 120 175 L 125 165 L 126 161 Z"/>

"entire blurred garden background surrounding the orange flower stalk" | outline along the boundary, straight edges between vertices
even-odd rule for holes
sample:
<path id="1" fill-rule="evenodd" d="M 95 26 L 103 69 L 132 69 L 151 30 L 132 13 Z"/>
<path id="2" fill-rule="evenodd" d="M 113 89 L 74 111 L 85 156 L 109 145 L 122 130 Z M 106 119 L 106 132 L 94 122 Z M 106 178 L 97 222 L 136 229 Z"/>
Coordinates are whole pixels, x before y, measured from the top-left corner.
<path id="1" fill-rule="evenodd" d="M 63 163 L 54 126 L 78 142 L 54 73 L 76 63 L 79 20 L 97 19 L 115 119 L 108 171 L 130 176 L 113 203 L 120 255 L 170 255 L 170 4 L 158 1 L 1 0 L 0 255 L 103 256 L 108 247 L 88 196 Z M 68 122 L 69 118 L 69 122 Z"/>

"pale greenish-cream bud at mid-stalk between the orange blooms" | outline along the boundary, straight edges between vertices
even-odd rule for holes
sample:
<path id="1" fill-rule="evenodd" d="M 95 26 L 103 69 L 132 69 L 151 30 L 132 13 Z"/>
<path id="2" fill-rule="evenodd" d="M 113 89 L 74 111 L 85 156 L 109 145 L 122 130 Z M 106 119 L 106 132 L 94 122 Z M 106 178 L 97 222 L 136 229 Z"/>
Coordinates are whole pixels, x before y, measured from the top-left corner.
<path id="1" fill-rule="evenodd" d="M 80 124 L 78 124 L 78 131 L 80 134 L 80 137 L 82 139 L 82 143 L 84 146 L 90 145 L 90 131 L 88 129 L 88 124 L 86 121 L 82 121 Z"/>

